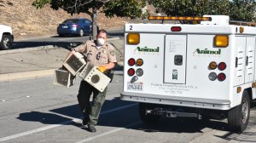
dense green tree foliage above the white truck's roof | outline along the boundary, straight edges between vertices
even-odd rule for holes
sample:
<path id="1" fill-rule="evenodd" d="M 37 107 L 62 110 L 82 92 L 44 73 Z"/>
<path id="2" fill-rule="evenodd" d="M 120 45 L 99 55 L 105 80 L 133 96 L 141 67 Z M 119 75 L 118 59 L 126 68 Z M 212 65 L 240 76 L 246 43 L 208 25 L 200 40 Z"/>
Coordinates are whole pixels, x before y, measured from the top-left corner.
<path id="1" fill-rule="evenodd" d="M 230 15 L 230 20 L 255 21 L 255 0 L 148 0 L 154 7 L 172 16 Z"/>

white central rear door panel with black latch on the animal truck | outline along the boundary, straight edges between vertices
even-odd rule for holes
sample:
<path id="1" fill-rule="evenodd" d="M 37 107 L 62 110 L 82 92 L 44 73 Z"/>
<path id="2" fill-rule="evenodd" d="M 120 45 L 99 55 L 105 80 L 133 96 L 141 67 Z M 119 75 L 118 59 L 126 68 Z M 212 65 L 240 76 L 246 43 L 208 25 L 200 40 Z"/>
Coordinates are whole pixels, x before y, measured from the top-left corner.
<path id="1" fill-rule="evenodd" d="M 166 35 L 164 83 L 186 83 L 187 35 Z"/>

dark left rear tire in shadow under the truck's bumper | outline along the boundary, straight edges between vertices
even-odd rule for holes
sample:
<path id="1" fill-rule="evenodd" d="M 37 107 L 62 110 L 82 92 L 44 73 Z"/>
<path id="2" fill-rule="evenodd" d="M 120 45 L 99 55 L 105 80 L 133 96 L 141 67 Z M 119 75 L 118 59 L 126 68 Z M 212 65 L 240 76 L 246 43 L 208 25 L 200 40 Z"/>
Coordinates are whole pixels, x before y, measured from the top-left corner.
<path id="1" fill-rule="evenodd" d="M 143 123 L 154 124 L 160 120 L 160 115 L 148 114 L 147 110 L 154 109 L 154 105 L 147 103 L 139 103 L 139 114 Z"/>

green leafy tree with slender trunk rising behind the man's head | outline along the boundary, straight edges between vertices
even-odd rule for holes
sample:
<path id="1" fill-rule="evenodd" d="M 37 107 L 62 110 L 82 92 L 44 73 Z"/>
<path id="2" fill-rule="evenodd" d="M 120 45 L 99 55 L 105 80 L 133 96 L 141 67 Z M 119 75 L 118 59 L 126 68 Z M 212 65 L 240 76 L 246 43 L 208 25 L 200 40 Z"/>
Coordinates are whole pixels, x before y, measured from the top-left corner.
<path id="1" fill-rule="evenodd" d="M 96 39 L 97 14 L 105 13 L 107 17 L 137 18 L 142 16 L 145 0 L 35 0 L 32 5 L 43 8 L 50 4 L 52 9 L 64 9 L 68 14 L 89 14 L 93 24 L 92 37 Z"/>

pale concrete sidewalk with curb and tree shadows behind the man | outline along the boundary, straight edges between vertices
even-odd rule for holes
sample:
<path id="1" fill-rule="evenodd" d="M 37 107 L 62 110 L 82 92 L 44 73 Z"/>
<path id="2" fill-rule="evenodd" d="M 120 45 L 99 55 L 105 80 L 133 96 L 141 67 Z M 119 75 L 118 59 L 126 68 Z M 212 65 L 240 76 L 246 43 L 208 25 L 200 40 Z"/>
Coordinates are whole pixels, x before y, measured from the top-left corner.
<path id="1" fill-rule="evenodd" d="M 122 69 L 124 39 L 113 37 L 108 39 L 115 47 L 117 70 Z M 45 77 L 53 75 L 55 69 L 62 66 L 69 50 L 53 45 L 34 48 L 10 49 L 0 51 L 0 81 L 13 81 L 24 78 Z"/>

